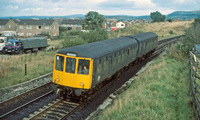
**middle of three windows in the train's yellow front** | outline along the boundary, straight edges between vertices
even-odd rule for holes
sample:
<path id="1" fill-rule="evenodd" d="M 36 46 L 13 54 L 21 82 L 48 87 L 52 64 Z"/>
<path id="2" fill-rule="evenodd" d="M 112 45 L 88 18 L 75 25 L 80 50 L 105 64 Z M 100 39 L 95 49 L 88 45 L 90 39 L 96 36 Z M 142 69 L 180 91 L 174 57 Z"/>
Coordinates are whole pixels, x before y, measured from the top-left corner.
<path id="1" fill-rule="evenodd" d="M 75 73 L 75 69 L 76 69 L 76 59 L 67 57 L 66 58 L 65 72 Z"/>

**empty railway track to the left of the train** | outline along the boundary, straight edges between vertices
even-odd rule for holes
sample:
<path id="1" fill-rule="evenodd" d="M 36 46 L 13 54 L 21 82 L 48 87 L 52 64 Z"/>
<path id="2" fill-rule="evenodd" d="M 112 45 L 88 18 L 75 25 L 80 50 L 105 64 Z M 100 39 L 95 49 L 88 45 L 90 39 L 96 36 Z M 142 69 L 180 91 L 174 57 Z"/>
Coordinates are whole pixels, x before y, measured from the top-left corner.
<path id="1" fill-rule="evenodd" d="M 21 119 L 24 117 L 23 115 L 30 114 L 32 110 L 37 109 L 37 107 L 42 107 L 36 104 L 40 103 L 39 101 L 46 99 L 47 96 L 53 96 L 54 94 L 54 91 L 50 89 L 50 84 L 51 83 L 44 84 L 6 101 L 0 102 L 0 120 L 9 120 L 13 118 L 13 116 L 17 116 L 18 119 Z M 41 103 L 41 105 L 42 104 L 45 104 L 45 102 Z M 28 112 L 25 112 L 24 114 L 24 111 L 26 110 Z"/>

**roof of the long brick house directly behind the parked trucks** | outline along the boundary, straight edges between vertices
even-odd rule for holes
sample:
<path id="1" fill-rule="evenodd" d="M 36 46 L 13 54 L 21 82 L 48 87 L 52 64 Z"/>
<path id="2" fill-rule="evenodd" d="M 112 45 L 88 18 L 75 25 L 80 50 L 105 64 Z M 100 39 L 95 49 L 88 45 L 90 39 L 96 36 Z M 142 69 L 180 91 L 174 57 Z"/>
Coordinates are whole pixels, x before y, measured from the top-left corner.
<path id="1" fill-rule="evenodd" d="M 52 25 L 54 20 L 51 19 L 21 19 L 17 23 L 18 25 Z"/>

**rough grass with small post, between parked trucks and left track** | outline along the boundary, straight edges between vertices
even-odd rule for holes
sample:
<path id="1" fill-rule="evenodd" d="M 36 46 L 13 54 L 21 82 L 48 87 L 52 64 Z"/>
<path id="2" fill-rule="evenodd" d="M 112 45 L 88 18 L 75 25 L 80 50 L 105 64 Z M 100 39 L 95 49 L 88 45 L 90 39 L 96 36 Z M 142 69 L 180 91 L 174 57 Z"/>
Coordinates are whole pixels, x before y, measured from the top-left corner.
<path id="1" fill-rule="evenodd" d="M 33 54 L 12 55 L 0 59 L 0 88 L 25 82 L 52 72 L 55 52 L 41 51 Z M 27 75 L 25 76 L 25 64 Z"/>

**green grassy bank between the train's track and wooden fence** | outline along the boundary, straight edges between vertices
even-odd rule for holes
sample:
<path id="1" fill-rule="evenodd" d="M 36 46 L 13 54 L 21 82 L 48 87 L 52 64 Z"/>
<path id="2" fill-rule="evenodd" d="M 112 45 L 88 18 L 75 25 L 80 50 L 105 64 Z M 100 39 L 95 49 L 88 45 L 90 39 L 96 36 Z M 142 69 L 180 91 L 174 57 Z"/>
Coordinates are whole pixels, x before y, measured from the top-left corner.
<path id="1" fill-rule="evenodd" d="M 193 120 L 188 59 L 162 55 L 140 74 L 100 120 Z"/>

